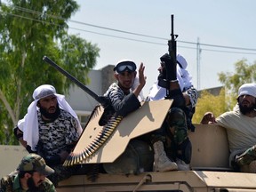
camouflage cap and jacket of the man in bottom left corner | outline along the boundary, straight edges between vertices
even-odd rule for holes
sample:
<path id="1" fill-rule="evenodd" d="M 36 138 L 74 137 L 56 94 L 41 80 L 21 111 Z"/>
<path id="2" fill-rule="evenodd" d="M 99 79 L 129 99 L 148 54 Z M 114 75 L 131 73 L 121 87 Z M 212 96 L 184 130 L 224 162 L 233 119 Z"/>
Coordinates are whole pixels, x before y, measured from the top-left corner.
<path id="1" fill-rule="evenodd" d="M 0 192 L 30 192 L 30 190 L 24 190 L 20 186 L 20 175 L 19 172 L 39 172 L 44 176 L 48 176 L 54 172 L 51 167 L 45 164 L 44 158 L 36 154 L 28 154 L 21 160 L 17 171 L 10 173 L 3 177 L 0 181 L 1 188 Z M 51 180 L 45 178 L 42 184 L 38 187 L 38 191 L 44 192 L 55 192 L 55 187 Z M 32 191 L 31 191 L 32 192 Z M 33 191 L 35 192 L 35 191 Z"/>

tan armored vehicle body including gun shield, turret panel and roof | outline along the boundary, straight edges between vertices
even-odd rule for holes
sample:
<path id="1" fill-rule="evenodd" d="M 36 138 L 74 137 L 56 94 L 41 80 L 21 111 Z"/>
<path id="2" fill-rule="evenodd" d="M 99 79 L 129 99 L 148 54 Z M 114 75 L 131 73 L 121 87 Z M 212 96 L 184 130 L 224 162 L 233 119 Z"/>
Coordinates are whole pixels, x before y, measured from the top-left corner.
<path id="1" fill-rule="evenodd" d="M 74 164 L 113 162 L 132 138 L 158 129 L 163 123 L 172 100 L 142 103 L 142 107 L 126 116 L 108 140 L 92 156 L 81 161 L 79 151 L 90 145 L 101 116 L 98 111 L 76 145 Z M 100 110 L 101 111 L 101 110 Z M 148 129 L 145 131 L 145 127 Z M 94 131 L 93 131 L 94 130 Z M 228 166 L 228 138 L 224 128 L 196 124 L 189 132 L 192 142 L 191 171 L 143 172 L 139 175 L 100 173 L 96 181 L 87 175 L 74 175 L 59 183 L 58 191 L 256 191 L 256 174 L 233 172 Z M 74 155 L 74 154 L 73 154 Z M 80 163 L 79 163 L 80 161 Z"/>

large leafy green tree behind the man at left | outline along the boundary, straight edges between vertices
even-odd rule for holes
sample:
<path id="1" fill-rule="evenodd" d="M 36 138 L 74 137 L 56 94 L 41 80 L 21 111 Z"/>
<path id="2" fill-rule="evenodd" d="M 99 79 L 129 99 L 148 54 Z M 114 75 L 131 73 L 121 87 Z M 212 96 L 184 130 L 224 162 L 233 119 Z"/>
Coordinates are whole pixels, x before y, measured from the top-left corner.
<path id="1" fill-rule="evenodd" d="M 42 60 L 44 55 L 88 83 L 87 73 L 100 49 L 79 36 L 68 36 L 67 21 L 78 8 L 73 0 L 0 4 L 0 143 L 17 143 L 12 128 L 26 114 L 38 85 L 52 84 L 59 93 L 67 93 L 72 85 Z"/>

